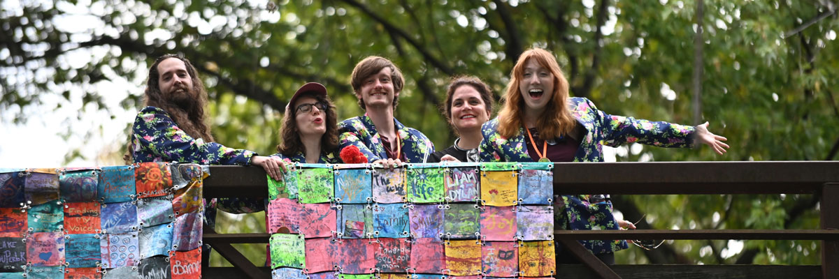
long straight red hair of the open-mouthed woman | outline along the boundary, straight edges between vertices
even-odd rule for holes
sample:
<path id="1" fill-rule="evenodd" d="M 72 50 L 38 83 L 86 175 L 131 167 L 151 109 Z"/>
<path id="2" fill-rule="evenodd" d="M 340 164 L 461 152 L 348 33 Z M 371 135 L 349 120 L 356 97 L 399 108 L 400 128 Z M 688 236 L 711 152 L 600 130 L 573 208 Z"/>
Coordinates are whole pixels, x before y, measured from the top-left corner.
<path id="1" fill-rule="evenodd" d="M 545 107 L 545 112 L 536 121 L 536 129 L 540 138 L 556 138 L 568 135 L 573 131 L 576 121 L 568 108 L 568 80 L 562 74 L 560 65 L 556 63 L 554 54 L 545 49 L 528 49 L 519 56 L 519 61 L 513 66 L 510 82 L 503 96 L 503 107 L 498 112 L 498 133 L 502 137 L 519 136 L 519 128 L 523 126 L 524 98 L 519 90 L 524 75 L 524 65 L 529 59 L 536 59 L 554 76 L 554 94 Z"/>

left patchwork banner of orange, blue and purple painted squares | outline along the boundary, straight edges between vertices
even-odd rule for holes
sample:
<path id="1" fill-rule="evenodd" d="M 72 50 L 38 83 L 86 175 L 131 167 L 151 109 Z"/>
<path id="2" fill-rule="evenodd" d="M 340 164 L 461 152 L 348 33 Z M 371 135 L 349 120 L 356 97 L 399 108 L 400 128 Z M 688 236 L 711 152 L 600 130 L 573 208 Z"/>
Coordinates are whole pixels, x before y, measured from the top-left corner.
<path id="1" fill-rule="evenodd" d="M 196 164 L 0 173 L 0 278 L 200 278 Z"/>

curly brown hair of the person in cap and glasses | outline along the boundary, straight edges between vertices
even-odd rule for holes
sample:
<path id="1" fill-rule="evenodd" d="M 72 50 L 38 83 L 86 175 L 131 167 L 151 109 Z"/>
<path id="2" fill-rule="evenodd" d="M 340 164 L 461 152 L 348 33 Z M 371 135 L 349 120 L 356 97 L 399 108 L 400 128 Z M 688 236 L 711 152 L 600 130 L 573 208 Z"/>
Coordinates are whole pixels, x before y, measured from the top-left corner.
<path id="1" fill-rule="evenodd" d="M 326 132 L 320 137 L 320 150 L 335 152 L 338 148 L 338 115 L 335 112 L 335 104 L 332 103 L 329 96 L 317 96 L 309 92 L 300 95 L 300 97 L 302 96 L 315 98 L 328 107 L 324 111 L 326 114 Z M 298 100 L 300 100 L 300 97 L 298 97 Z M 292 106 L 289 106 L 290 109 L 285 111 L 283 127 L 279 129 L 279 137 L 281 137 L 282 143 L 277 145 L 277 152 L 285 156 L 294 156 L 297 152 L 305 152 L 305 146 L 300 141 L 297 131 L 297 107 L 294 105 L 297 104 L 292 104 Z"/>

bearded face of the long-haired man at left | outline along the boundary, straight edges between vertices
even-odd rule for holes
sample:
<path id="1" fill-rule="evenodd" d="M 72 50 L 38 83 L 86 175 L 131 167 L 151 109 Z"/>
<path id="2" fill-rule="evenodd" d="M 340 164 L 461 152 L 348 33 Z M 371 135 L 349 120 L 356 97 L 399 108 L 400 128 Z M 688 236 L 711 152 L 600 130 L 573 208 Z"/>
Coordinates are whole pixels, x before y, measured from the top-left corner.
<path id="1" fill-rule="evenodd" d="M 158 65 L 158 73 L 160 92 L 167 100 L 180 105 L 197 97 L 193 96 L 192 77 L 186 71 L 184 61 L 174 57 L 164 59 Z"/>

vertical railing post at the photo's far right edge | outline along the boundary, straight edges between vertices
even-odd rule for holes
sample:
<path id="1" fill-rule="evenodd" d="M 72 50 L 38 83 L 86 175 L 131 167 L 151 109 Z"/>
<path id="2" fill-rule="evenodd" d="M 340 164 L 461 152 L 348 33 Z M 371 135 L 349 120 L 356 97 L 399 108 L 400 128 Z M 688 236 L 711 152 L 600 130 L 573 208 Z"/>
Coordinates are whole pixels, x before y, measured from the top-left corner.
<path id="1" fill-rule="evenodd" d="M 835 169 L 837 171 L 839 169 Z M 825 183 L 821 188 L 821 229 L 839 231 L 839 183 Z M 821 275 L 839 278 L 839 240 L 821 241 Z"/>

